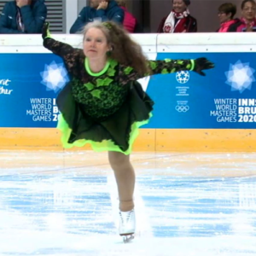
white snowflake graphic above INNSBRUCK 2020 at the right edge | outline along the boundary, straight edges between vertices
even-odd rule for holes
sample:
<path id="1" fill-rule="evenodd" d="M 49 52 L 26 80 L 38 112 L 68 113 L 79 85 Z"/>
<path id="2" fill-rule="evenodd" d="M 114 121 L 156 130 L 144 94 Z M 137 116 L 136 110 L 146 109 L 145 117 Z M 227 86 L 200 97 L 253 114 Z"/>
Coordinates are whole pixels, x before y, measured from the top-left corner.
<path id="1" fill-rule="evenodd" d="M 253 76 L 255 70 L 249 64 L 241 63 L 241 61 L 237 61 L 234 65 L 230 64 L 230 71 L 225 72 L 225 75 L 227 77 L 226 84 L 231 86 L 231 90 L 239 90 L 240 93 L 244 90 L 251 90 L 255 81 Z"/>

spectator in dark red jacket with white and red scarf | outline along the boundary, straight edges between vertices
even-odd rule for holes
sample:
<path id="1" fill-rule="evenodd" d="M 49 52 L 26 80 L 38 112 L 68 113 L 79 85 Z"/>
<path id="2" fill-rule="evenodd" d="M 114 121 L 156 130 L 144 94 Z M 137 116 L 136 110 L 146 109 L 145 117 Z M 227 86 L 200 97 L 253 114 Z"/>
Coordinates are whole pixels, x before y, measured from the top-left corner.
<path id="1" fill-rule="evenodd" d="M 173 0 L 172 12 L 160 22 L 159 33 L 197 32 L 197 22 L 189 15 L 190 0 Z"/>

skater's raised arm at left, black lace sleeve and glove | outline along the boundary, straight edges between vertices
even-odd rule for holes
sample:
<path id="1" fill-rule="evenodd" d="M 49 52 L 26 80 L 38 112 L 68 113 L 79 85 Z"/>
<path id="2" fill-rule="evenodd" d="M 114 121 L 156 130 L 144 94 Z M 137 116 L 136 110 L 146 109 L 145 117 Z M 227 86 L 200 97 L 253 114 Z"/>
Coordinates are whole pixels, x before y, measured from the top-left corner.
<path id="1" fill-rule="evenodd" d="M 68 72 L 74 73 L 80 50 L 51 38 L 49 23 L 44 24 L 42 37 L 44 39 L 44 47 L 52 51 L 55 55 L 59 55 L 65 62 Z"/>

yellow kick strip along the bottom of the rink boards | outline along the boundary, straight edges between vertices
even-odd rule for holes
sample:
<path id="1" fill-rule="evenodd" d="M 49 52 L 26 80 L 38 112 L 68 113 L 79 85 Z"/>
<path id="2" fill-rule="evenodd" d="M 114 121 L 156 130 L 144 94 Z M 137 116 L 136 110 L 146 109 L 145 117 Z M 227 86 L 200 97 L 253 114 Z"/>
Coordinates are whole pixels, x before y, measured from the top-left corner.
<path id="1" fill-rule="evenodd" d="M 61 147 L 55 128 L 0 128 L 0 149 L 90 150 Z M 224 129 L 141 129 L 134 151 L 254 152 L 255 130 Z"/>

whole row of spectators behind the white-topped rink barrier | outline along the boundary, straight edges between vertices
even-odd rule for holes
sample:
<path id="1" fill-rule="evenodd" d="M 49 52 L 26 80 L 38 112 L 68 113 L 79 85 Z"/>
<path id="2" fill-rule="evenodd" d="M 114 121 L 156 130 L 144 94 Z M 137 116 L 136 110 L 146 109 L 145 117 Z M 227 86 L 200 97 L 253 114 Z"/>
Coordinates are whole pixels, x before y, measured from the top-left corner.
<path id="1" fill-rule="evenodd" d="M 158 33 L 197 32 L 197 20 L 189 13 L 190 0 L 170 0 L 170 13 L 160 20 Z M 219 28 L 216 32 L 256 32 L 256 3 L 241 2 L 241 17 L 236 4 L 223 3 L 218 7 Z M 41 33 L 47 19 L 44 0 L 15 0 L 5 4 L 0 15 L 0 33 Z M 94 20 L 112 20 L 128 32 L 143 33 L 143 26 L 128 11 L 126 0 L 90 0 L 73 22 L 70 33 L 79 33 Z"/>

